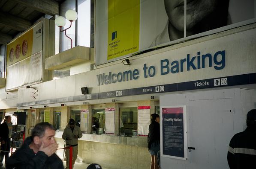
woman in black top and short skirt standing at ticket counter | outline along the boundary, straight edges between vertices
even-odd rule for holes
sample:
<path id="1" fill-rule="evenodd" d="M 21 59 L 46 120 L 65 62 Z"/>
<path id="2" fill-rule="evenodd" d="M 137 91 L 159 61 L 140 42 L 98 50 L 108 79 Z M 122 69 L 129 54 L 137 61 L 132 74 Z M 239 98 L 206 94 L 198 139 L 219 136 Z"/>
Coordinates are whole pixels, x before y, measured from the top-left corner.
<path id="1" fill-rule="evenodd" d="M 151 154 L 151 169 L 158 169 L 157 152 L 160 151 L 160 117 L 151 114 L 151 124 L 148 128 L 148 151 Z"/>

